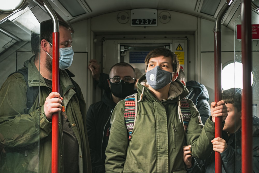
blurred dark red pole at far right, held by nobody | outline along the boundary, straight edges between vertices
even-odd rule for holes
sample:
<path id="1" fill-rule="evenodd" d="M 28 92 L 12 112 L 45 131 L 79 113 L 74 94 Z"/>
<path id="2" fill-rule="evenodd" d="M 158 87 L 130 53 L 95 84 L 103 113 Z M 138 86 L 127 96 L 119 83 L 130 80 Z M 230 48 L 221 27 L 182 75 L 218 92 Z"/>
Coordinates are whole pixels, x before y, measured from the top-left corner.
<path id="1" fill-rule="evenodd" d="M 242 92 L 242 172 L 252 172 L 252 33 L 251 33 L 251 1 L 241 1 L 241 44 L 243 64 L 243 92 Z"/>

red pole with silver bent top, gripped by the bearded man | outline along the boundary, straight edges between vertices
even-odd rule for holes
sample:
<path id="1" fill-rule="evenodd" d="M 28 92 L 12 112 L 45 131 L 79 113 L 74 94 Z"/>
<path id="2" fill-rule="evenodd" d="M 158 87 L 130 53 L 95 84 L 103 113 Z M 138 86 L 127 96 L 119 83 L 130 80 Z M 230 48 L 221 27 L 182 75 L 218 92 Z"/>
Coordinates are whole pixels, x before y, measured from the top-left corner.
<path id="1" fill-rule="evenodd" d="M 52 91 L 59 93 L 59 22 L 54 10 L 47 0 L 43 0 L 44 8 L 48 12 L 53 22 L 52 33 Z M 59 172 L 59 113 L 52 114 L 52 152 L 51 152 L 51 172 Z M 42 163 L 44 164 L 44 163 Z"/>

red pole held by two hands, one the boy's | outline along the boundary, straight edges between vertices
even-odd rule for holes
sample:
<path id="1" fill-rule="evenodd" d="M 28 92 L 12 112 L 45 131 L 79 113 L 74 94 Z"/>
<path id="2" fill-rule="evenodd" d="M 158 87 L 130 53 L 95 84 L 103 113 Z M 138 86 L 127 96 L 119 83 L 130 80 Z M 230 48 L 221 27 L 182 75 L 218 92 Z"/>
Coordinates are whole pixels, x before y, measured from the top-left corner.
<path id="1" fill-rule="evenodd" d="M 214 30 L 214 79 L 215 102 L 221 100 L 221 21 L 233 1 L 228 0 L 220 9 Z M 215 117 L 215 137 L 222 137 L 221 117 Z M 222 159 L 219 152 L 215 151 L 215 173 L 222 173 Z"/>

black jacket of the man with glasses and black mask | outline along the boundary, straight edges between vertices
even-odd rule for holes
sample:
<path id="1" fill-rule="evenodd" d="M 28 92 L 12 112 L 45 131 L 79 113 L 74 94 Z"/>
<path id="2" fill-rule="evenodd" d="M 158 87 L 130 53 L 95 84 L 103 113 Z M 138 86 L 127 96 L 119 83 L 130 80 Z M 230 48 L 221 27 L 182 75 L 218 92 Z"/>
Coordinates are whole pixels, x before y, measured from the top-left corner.
<path id="1" fill-rule="evenodd" d="M 105 149 L 110 135 L 111 114 L 115 106 L 111 92 L 106 90 L 102 101 L 93 103 L 87 111 L 86 125 L 93 173 L 105 172 Z"/>

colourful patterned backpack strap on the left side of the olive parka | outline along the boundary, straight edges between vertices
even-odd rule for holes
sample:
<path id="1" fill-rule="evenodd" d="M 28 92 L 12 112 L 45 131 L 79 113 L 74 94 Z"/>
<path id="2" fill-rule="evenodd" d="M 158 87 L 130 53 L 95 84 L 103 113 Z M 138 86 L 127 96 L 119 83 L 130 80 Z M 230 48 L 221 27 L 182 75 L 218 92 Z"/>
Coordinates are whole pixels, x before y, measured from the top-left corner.
<path id="1" fill-rule="evenodd" d="M 134 127 L 134 123 L 136 121 L 136 93 L 129 95 L 125 98 L 125 111 L 124 111 L 124 119 L 126 123 L 126 127 L 128 129 L 129 141 L 131 140 L 132 131 Z"/>

